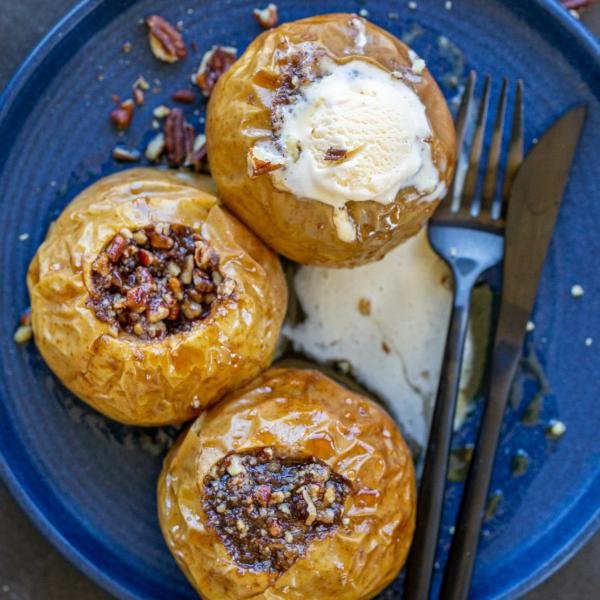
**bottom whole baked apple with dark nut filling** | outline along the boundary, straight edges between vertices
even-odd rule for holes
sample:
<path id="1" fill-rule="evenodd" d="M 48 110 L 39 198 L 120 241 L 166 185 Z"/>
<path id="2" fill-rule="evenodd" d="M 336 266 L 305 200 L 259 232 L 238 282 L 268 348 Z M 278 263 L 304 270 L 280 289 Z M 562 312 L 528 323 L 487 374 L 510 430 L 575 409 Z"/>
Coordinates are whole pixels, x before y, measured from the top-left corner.
<path id="1" fill-rule="evenodd" d="M 181 436 L 158 507 L 207 600 L 357 600 L 404 563 L 415 477 L 381 407 L 318 371 L 271 369 Z"/>

